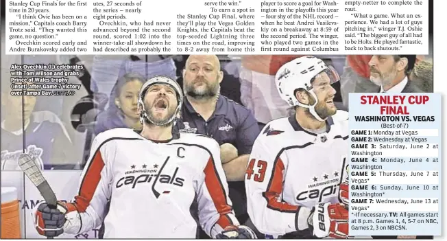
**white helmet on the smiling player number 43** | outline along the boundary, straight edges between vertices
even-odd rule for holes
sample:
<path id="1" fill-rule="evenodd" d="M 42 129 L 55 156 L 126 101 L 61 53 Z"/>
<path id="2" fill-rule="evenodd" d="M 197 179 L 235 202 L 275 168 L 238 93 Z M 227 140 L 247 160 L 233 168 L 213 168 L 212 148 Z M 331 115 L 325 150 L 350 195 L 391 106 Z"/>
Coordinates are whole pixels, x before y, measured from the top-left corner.
<path id="1" fill-rule="evenodd" d="M 282 65 L 276 72 L 276 89 L 282 100 L 285 100 L 290 106 L 302 106 L 309 108 L 309 111 L 319 121 L 324 121 L 315 112 L 315 106 L 318 104 L 317 95 L 313 91 L 312 82 L 319 73 L 326 72 L 330 78 L 330 84 L 340 80 L 337 71 L 332 66 L 327 66 L 323 60 L 314 56 L 303 56 L 295 58 L 285 65 Z M 313 105 L 302 104 L 296 98 L 296 91 L 304 89 L 315 99 Z"/>

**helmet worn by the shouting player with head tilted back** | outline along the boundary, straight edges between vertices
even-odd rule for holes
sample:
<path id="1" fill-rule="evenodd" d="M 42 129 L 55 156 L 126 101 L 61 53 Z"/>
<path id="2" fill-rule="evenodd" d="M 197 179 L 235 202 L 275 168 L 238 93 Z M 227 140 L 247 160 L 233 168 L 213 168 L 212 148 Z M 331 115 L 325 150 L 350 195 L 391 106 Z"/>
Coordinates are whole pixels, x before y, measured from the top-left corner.
<path id="1" fill-rule="evenodd" d="M 147 117 L 146 110 L 145 110 L 144 99 L 146 96 L 147 89 L 149 89 L 149 87 L 151 87 L 154 84 L 166 84 L 169 87 L 171 87 L 172 89 L 174 89 L 174 91 L 176 91 L 177 102 L 178 102 L 176 112 L 174 112 L 174 115 L 171 118 L 169 118 L 166 123 L 163 123 L 160 125 L 169 124 L 169 123 L 175 121 L 176 117 L 178 117 L 178 114 L 180 113 L 180 110 L 181 110 L 182 104 L 183 104 L 183 93 L 182 93 L 182 89 L 180 88 L 180 85 L 177 83 L 177 81 L 169 78 L 168 76 L 154 76 L 154 77 L 150 78 L 149 80 L 147 80 L 143 84 L 143 87 L 141 87 L 140 93 L 138 94 L 138 108 L 140 108 L 140 106 L 141 106 L 141 108 L 143 110 L 143 111 L 141 111 L 141 114 L 140 114 L 140 121 L 142 123 L 143 123 L 143 120 L 145 120 L 146 122 L 150 122 L 149 118 Z"/>

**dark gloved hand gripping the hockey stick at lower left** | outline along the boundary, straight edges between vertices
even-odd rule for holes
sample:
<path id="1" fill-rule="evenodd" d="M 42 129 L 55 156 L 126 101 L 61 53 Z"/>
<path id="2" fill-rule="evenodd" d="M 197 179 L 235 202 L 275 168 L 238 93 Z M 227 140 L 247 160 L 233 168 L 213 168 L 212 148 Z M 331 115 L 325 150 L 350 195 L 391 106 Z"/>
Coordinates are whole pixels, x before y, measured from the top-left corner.
<path id="1" fill-rule="evenodd" d="M 58 202 L 56 208 L 47 203 L 40 203 L 33 211 L 33 220 L 37 232 L 42 236 L 57 237 L 64 233 L 65 213 L 67 206 Z"/>

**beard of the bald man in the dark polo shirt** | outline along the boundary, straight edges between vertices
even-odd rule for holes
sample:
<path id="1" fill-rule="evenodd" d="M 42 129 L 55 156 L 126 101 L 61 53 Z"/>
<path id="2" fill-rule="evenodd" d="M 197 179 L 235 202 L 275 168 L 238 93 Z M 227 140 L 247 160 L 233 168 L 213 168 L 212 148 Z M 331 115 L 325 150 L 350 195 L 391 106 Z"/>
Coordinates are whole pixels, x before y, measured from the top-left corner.
<path id="1" fill-rule="evenodd" d="M 201 87 L 195 87 L 197 82 L 202 82 Z M 220 85 L 218 81 L 214 83 L 207 82 L 204 78 L 195 78 L 194 81 L 185 82 L 184 92 L 195 100 L 207 100 L 216 97 L 219 94 Z"/>

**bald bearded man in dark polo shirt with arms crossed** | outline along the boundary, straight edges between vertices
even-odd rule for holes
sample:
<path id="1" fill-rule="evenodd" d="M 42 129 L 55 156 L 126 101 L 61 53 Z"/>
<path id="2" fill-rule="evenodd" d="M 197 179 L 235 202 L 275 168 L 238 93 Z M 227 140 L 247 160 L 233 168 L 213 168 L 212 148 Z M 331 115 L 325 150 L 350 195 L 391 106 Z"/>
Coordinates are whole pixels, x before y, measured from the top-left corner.
<path id="1" fill-rule="evenodd" d="M 247 200 L 243 182 L 254 139 L 260 130 L 247 108 L 219 94 L 224 78 L 217 56 L 189 56 L 183 71 L 184 104 L 176 128 L 215 139 L 228 181 L 229 196 L 241 224 L 247 224 Z M 209 238 L 201 231 L 200 238 Z"/>

